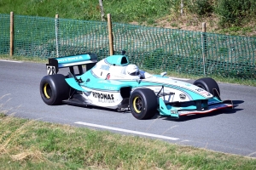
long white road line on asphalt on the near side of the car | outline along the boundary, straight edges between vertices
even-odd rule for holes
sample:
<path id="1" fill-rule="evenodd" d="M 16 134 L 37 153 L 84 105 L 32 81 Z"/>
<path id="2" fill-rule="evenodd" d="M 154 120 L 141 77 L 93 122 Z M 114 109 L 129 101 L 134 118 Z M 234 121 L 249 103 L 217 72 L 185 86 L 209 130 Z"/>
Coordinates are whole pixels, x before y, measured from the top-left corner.
<path id="1" fill-rule="evenodd" d="M 178 140 L 177 138 L 172 138 L 172 137 L 168 137 L 168 136 L 163 136 L 163 135 L 158 135 L 158 134 L 153 134 L 153 133 L 143 133 L 143 132 L 138 132 L 138 131 L 127 130 L 127 129 L 124 129 L 124 128 L 107 127 L 107 126 L 92 124 L 92 123 L 88 123 L 88 122 L 74 122 L 74 123 L 89 126 L 89 127 L 100 127 L 100 128 L 105 128 L 105 129 L 119 131 L 119 132 L 140 134 L 140 135 L 143 135 L 143 136 L 149 136 L 149 137 L 154 137 L 154 138 L 159 138 L 159 139 Z"/>

